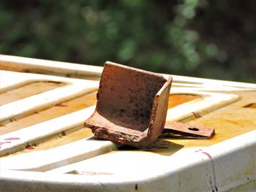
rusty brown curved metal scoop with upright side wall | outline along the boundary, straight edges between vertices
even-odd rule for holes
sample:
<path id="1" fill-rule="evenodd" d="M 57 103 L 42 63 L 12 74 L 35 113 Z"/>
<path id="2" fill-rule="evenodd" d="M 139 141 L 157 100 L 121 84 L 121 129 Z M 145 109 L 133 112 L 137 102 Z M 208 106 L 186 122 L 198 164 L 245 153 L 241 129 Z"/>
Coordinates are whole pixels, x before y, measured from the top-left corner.
<path id="1" fill-rule="evenodd" d="M 172 77 L 106 62 L 97 107 L 85 126 L 102 139 L 150 147 L 165 126 L 171 82 Z"/>

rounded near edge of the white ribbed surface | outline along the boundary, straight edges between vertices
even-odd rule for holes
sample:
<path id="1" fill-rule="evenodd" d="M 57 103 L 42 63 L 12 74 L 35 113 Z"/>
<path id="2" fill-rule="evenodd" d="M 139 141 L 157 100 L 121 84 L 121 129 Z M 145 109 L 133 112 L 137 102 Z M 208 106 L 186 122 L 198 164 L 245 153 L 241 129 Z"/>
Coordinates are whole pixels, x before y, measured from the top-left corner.
<path id="1" fill-rule="evenodd" d="M 154 177 L 148 174 L 148 176 L 143 175 L 138 180 L 136 177 L 112 177 L 112 175 L 101 175 L 97 177 L 91 177 L 91 175 L 70 175 L 70 174 L 47 174 L 42 172 L 20 172 L 13 170 L 3 170 L 0 174 L 0 180 L 5 182 L 0 183 L 0 188 L 3 188 L 3 185 L 14 184 L 20 187 L 20 185 L 26 185 L 29 187 L 29 183 L 33 182 L 34 185 L 38 185 L 37 189 L 43 190 L 45 188 L 42 184 L 47 184 L 49 188 L 59 188 L 65 189 L 65 185 L 70 186 L 70 188 L 81 187 L 86 189 L 97 189 L 98 191 L 104 190 L 118 190 L 134 188 L 135 183 L 143 191 L 154 191 L 156 189 L 170 189 L 173 191 L 184 190 L 184 187 L 187 187 L 187 190 L 190 188 L 195 188 L 195 185 L 198 187 L 198 183 L 195 183 L 195 180 L 203 183 L 199 185 L 198 190 L 211 191 L 209 176 L 213 180 L 213 175 L 215 172 L 215 184 L 218 188 L 218 191 L 226 191 L 230 188 L 235 188 L 238 185 L 248 182 L 249 180 L 256 179 L 255 167 L 248 174 L 246 172 L 241 173 L 241 166 L 238 163 L 237 158 L 234 156 L 241 156 L 244 161 L 249 161 L 250 158 L 256 159 L 255 154 L 252 153 L 252 150 L 256 148 L 256 131 L 251 131 L 246 134 L 242 134 L 233 139 L 228 139 L 225 142 L 212 145 L 211 147 L 205 147 L 203 149 L 195 149 L 189 153 L 184 153 L 184 157 L 187 155 L 192 155 L 192 158 L 185 158 L 183 161 L 173 161 L 173 164 L 176 166 L 176 169 L 170 168 L 165 169 L 162 173 L 155 174 Z M 230 145 L 233 145 L 230 147 Z M 204 152 L 211 155 L 211 158 L 208 158 L 207 155 L 204 155 Z M 178 159 L 179 155 L 176 155 Z M 172 157 L 169 157 L 169 162 Z M 180 156 L 179 156 L 180 158 Z M 213 171 L 214 164 L 214 171 Z M 233 169 L 227 170 L 230 166 L 233 166 Z M 200 167 L 201 166 L 201 167 Z M 255 166 L 255 165 L 254 165 Z M 226 169 L 225 169 L 226 167 Z M 253 167 L 252 167 L 253 168 Z M 204 171 L 205 174 L 201 174 Z M 206 176 L 208 173 L 208 176 Z M 186 185 L 178 185 L 176 180 L 178 177 L 187 177 L 187 175 L 193 175 L 192 180 L 188 180 Z M 233 180 L 233 174 L 240 174 L 238 180 Z M 57 177 L 59 175 L 59 177 Z M 47 177 L 46 177 L 47 176 Z M 219 177 L 222 177 L 219 179 Z M 115 178 L 115 180 L 113 180 Z M 222 183 L 221 180 L 225 179 L 225 183 Z M 15 181 L 15 183 L 14 183 Z M 9 185 L 8 184 L 8 185 Z M 31 188 L 34 188 L 34 185 Z M 118 185 L 118 188 L 117 188 Z M 62 186 L 62 187 L 61 187 Z M 183 186 L 183 187 L 182 187 Z M 185 191 L 187 191 L 185 190 Z"/>

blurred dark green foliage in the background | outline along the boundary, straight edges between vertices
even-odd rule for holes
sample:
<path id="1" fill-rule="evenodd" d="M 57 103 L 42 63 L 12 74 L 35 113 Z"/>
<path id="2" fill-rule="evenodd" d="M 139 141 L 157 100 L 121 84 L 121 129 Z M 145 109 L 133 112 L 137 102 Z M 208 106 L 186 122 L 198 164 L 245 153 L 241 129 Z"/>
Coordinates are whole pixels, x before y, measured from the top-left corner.
<path id="1" fill-rule="evenodd" d="M 0 53 L 256 82 L 254 1 L 0 1 Z"/>

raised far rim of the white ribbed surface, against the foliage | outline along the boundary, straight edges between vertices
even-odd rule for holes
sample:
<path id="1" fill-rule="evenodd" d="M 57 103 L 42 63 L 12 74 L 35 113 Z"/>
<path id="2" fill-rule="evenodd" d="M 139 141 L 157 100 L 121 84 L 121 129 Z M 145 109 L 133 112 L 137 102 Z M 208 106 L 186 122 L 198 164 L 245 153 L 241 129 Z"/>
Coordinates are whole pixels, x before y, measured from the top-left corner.
<path id="1" fill-rule="evenodd" d="M 70 72 L 78 75 L 79 78 L 84 78 L 86 75 L 90 77 L 100 78 L 103 67 L 102 66 L 91 66 L 84 64 L 73 64 L 61 61 L 49 61 L 38 58 L 25 58 L 19 56 L 12 55 L 1 55 L 0 54 L 0 66 L 1 63 L 15 64 L 21 66 L 23 70 L 29 69 L 32 66 L 36 66 L 43 69 L 53 69 L 53 71 L 59 70 L 59 73 L 67 76 Z M 62 69 L 62 70 L 61 70 Z M 48 70 L 50 72 L 50 70 Z M 162 74 L 164 77 L 169 74 Z M 199 77 L 186 77 L 181 75 L 171 74 L 173 77 L 173 83 L 178 82 L 191 82 L 193 85 L 223 85 L 225 87 L 233 87 L 233 88 L 252 88 L 256 89 L 256 85 L 254 83 L 249 82 L 232 82 L 227 80 L 211 80 Z"/>

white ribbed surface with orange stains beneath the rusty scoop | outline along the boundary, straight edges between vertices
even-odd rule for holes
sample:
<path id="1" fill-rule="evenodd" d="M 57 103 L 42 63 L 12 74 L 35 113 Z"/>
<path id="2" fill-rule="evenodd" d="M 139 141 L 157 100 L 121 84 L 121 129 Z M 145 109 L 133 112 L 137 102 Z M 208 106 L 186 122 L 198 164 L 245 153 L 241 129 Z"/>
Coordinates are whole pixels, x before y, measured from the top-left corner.
<path id="1" fill-rule="evenodd" d="M 0 66 L 0 96 L 30 82 L 64 83 L 0 106 L 0 131 L 12 120 L 96 91 L 102 72 L 100 67 L 8 55 L 0 55 Z M 171 107 L 167 120 L 203 116 L 201 123 L 207 124 L 217 115 L 229 115 L 225 109 L 232 104 L 232 110 L 244 107 L 244 95 L 238 93 L 256 91 L 249 83 L 181 76 L 173 80 L 171 94 L 200 98 Z M 249 102 L 255 103 L 253 99 Z M 83 122 L 93 111 L 91 104 L 1 134 L 0 191 L 256 191 L 256 119 L 249 124 L 245 117 L 246 131 L 235 124 L 219 127 L 215 140 L 159 139 L 153 149 L 134 150 L 87 134 Z M 241 122 L 243 115 L 256 117 L 255 111 L 241 114 Z"/>

